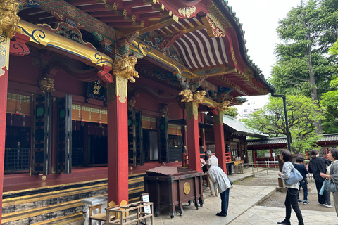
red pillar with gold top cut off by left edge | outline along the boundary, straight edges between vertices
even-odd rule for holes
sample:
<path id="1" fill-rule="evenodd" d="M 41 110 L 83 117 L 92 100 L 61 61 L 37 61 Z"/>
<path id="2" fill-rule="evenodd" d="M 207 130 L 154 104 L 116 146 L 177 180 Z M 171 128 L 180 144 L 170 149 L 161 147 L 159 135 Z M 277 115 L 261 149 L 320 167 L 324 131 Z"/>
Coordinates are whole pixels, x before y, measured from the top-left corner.
<path id="1" fill-rule="evenodd" d="M 4 190 L 4 157 L 6 139 L 6 110 L 8 88 L 9 42 L 4 30 L 0 30 L 0 194 Z M 0 198 L 0 212 L 2 212 L 2 197 Z M 1 217 L 0 217 L 1 224 Z"/>

